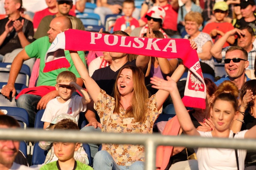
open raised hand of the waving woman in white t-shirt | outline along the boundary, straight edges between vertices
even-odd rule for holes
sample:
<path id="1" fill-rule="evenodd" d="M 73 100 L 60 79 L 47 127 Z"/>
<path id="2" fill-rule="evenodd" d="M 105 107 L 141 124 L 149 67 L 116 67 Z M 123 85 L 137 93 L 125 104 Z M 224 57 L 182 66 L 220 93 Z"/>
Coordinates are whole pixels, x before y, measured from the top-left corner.
<path id="1" fill-rule="evenodd" d="M 172 80 L 169 76 L 166 77 L 168 81 L 158 78 L 156 76 L 150 78 L 152 83 L 152 87 L 160 90 L 165 90 L 165 91 L 173 91 L 175 88 L 177 88 L 177 84 L 174 80 Z"/>

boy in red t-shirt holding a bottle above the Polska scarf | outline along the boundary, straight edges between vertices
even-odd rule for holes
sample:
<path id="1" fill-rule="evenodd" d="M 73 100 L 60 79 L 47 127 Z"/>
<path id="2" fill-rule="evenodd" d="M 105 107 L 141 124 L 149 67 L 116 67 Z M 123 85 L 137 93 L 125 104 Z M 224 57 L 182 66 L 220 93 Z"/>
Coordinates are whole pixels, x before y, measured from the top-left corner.
<path id="1" fill-rule="evenodd" d="M 133 0 L 123 1 L 122 10 L 123 10 L 124 16 L 116 20 L 113 31 L 121 30 L 130 34 L 134 28 L 139 27 L 138 20 L 132 17 L 134 9 L 135 9 L 135 5 Z"/>

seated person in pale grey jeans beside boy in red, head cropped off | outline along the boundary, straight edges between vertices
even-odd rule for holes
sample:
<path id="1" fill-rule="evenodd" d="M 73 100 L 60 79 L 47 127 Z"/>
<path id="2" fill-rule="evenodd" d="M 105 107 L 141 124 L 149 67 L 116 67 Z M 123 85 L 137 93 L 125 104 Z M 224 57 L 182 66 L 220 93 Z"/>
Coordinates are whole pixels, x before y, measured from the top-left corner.
<path id="1" fill-rule="evenodd" d="M 109 14 L 122 14 L 122 5 L 124 0 L 99 0 L 94 13 L 99 14 L 102 25 L 105 25 L 105 17 Z M 139 9 L 135 8 L 133 17 L 139 18 Z"/>

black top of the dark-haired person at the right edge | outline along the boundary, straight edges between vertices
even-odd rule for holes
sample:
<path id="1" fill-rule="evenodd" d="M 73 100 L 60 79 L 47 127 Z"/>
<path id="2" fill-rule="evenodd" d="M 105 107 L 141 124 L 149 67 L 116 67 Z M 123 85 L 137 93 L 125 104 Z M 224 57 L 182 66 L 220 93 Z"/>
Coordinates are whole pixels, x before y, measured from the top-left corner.
<path id="1" fill-rule="evenodd" d="M 249 113 L 244 117 L 244 123 L 242 124 L 242 130 L 251 129 L 256 125 L 256 118 L 252 117 Z M 247 154 L 245 157 L 245 164 L 251 165 L 250 163 L 254 163 L 256 165 L 256 151 L 247 150 Z"/>

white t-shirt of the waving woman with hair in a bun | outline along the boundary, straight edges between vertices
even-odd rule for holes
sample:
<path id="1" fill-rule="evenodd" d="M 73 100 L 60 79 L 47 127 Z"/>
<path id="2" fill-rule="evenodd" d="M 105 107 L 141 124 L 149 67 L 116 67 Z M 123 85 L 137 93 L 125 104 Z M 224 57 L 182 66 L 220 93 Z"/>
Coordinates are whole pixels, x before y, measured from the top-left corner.
<path id="1" fill-rule="evenodd" d="M 243 130 L 236 133 L 235 139 L 244 139 L 245 133 L 248 130 Z M 212 132 L 198 131 L 201 137 L 212 138 Z M 233 138 L 233 131 L 230 130 L 229 138 Z M 199 170 L 237 170 L 236 154 L 234 149 L 225 148 L 194 148 L 197 154 Z M 238 149 L 239 169 L 244 169 L 246 150 Z"/>

